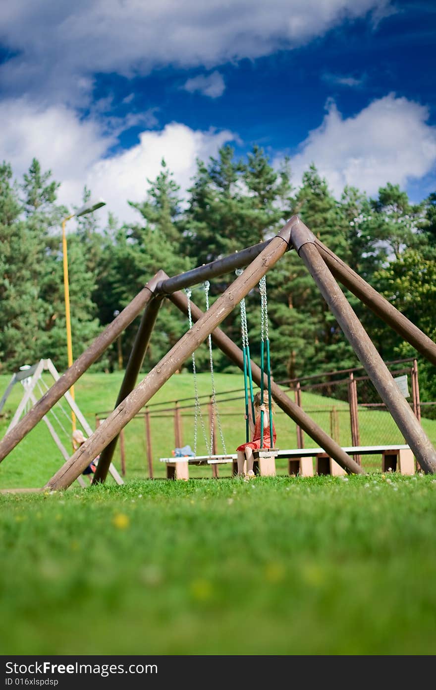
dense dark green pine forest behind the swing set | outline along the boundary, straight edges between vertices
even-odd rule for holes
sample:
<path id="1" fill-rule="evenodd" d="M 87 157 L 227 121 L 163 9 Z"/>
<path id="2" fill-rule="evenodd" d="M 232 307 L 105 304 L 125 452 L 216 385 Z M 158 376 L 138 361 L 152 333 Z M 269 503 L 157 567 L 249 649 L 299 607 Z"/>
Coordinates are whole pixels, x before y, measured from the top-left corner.
<path id="1" fill-rule="evenodd" d="M 68 228 L 68 266 L 74 357 L 138 293 L 156 270 L 169 275 L 213 261 L 276 234 L 294 213 L 322 242 L 380 291 L 431 338 L 436 335 L 436 193 L 411 204 L 397 185 L 386 184 L 377 198 L 344 188 L 340 200 L 329 191 L 315 165 L 296 188 L 289 164 L 274 169 L 262 149 L 245 160 L 225 146 L 216 158 L 198 161 L 187 197 L 162 161 L 160 174 L 136 209 L 134 224 L 103 213 L 78 219 Z M 23 179 L 0 166 L 0 373 L 17 370 L 41 357 L 67 366 L 61 221 L 72 213 L 60 206 L 59 181 L 34 159 Z M 83 190 L 86 201 L 91 190 Z M 110 204 L 110 199 L 108 199 Z M 73 209 L 74 212 L 74 209 Z M 100 225 L 101 222 L 107 222 Z M 73 223 L 74 221 L 70 221 Z M 216 299 L 234 275 L 211 285 Z M 276 380 L 356 366 L 357 359 L 301 260 L 287 253 L 267 274 L 269 336 Z M 353 308 L 385 360 L 415 354 L 352 295 Z M 194 302 L 204 308 L 203 291 Z M 247 297 L 251 351 L 260 338 L 260 297 Z M 118 348 L 127 362 L 138 323 L 94 365 L 118 368 Z M 240 343 L 235 310 L 223 324 Z M 185 317 L 164 302 L 144 362 L 145 370 L 187 330 Z M 199 366 L 207 366 L 199 353 Z M 424 400 L 436 399 L 434 367 L 420 361 Z M 187 363 L 186 366 L 189 366 Z M 234 371 L 216 353 L 217 371 Z"/>

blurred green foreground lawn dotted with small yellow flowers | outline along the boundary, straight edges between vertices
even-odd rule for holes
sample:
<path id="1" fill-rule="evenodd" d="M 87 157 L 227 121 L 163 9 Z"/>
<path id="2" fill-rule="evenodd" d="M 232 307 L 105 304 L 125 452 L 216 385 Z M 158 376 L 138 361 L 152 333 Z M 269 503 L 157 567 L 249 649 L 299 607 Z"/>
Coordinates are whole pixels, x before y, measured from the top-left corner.
<path id="1" fill-rule="evenodd" d="M 436 480 L 0 495 L 6 654 L 435 652 Z"/>

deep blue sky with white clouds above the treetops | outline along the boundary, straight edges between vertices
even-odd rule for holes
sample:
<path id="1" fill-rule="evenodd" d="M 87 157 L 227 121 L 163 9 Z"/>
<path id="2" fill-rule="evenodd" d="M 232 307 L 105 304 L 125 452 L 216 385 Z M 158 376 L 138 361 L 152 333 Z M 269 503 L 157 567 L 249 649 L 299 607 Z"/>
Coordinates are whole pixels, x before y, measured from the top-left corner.
<path id="1" fill-rule="evenodd" d="M 401 0 L 14 0 L 0 9 L 1 157 L 35 155 L 79 204 L 121 221 L 164 156 L 258 144 L 293 184 L 313 161 L 337 197 L 436 190 L 436 4 Z"/>

